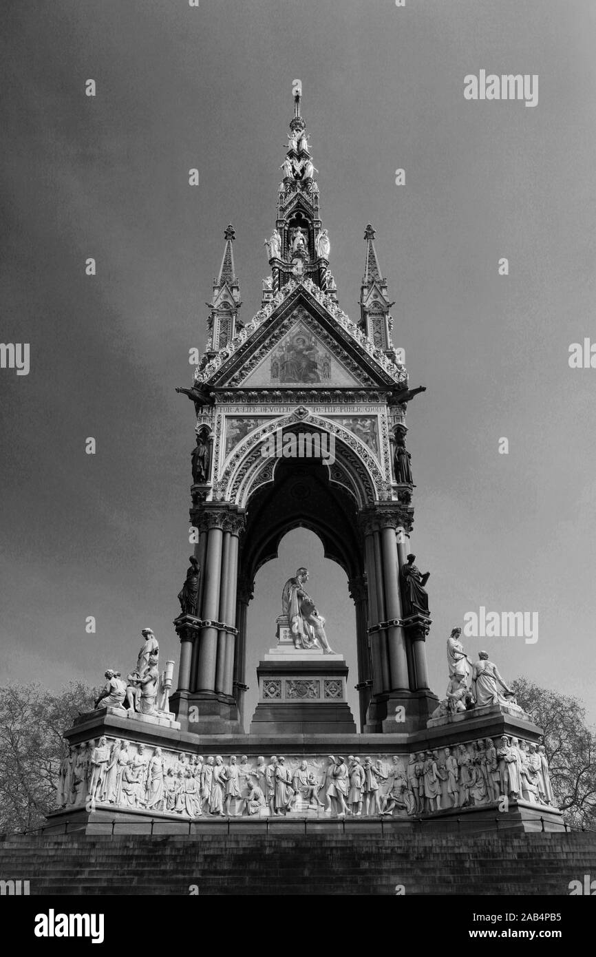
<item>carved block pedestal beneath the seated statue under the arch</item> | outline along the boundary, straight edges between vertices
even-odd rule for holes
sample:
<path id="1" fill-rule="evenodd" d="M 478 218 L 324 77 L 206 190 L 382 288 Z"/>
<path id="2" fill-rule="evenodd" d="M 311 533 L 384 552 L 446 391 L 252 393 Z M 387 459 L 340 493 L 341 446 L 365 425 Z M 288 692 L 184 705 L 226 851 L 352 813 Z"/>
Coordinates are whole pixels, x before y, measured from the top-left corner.
<path id="1" fill-rule="evenodd" d="M 342 655 L 279 642 L 256 669 L 258 704 L 251 734 L 354 734 L 347 672 Z"/>

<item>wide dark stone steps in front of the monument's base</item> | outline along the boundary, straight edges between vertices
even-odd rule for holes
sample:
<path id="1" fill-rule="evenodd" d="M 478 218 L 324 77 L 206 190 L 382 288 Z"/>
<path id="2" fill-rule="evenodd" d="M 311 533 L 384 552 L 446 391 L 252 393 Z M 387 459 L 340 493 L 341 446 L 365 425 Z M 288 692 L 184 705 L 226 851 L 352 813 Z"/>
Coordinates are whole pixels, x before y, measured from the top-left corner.
<path id="1" fill-rule="evenodd" d="M 0 842 L 0 878 L 55 895 L 566 895 L 596 834 L 52 835 Z"/>

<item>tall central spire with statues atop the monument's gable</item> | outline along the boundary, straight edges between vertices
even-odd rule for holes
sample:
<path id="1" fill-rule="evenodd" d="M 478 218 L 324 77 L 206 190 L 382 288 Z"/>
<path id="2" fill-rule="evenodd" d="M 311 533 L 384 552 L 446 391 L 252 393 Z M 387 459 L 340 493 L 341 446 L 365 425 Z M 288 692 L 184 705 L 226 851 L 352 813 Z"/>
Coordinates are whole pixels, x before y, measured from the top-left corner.
<path id="1" fill-rule="evenodd" d="M 265 240 L 274 293 L 291 278 L 309 278 L 337 300 L 337 287 L 329 272 L 329 236 L 319 218 L 319 187 L 300 114 L 302 84 L 295 79 L 294 116 L 290 121 L 283 179 L 277 194 L 276 229 Z M 265 292 L 266 290 L 264 290 Z"/>

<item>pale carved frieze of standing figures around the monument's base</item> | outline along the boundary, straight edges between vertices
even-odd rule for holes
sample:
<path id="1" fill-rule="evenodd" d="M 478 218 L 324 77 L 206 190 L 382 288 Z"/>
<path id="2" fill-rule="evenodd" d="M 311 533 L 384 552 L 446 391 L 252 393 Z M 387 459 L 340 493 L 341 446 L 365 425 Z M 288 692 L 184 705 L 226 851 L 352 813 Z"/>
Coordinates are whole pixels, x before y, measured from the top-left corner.
<path id="1" fill-rule="evenodd" d="M 407 761 L 407 763 L 406 763 Z M 414 816 L 497 802 L 554 806 L 544 746 L 488 738 L 405 756 L 188 756 L 103 736 L 69 748 L 56 808 L 197 817 Z"/>

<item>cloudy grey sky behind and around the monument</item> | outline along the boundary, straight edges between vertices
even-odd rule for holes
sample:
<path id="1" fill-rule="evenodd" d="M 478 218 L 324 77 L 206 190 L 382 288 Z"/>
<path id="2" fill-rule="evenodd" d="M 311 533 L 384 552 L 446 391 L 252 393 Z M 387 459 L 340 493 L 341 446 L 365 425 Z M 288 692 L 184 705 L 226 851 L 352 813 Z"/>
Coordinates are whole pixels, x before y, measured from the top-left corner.
<path id="1" fill-rule="evenodd" d="M 465 612 L 539 612 L 536 644 L 469 653 L 594 717 L 596 369 L 567 361 L 596 339 L 593 2 L 5 0 L 3 20 L 0 338 L 31 344 L 31 371 L 0 370 L 0 680 L 97 682 L 145 624 L 178 659 L 194 422 L 174 388 L 205 344 L 229 222 L 243 318 L 259 307 L 301 78 L 342 308 L 357 316 L 370 221 L 395 344 L 428 387 L 408 448 L 432 686 Z M 480 69 L 538 74 L 538 106 L 464 100 Z M 301 564 L 353 666 L 345 576 L 296 531 L 257 578 L 253 668 Z"/>

